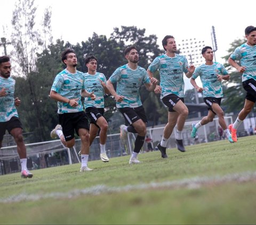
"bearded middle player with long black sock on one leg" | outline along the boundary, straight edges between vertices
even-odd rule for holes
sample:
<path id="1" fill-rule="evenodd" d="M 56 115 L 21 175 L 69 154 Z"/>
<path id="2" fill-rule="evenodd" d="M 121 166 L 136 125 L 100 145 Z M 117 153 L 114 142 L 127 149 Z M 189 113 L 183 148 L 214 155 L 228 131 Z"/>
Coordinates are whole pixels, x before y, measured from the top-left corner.
<path id="1" fill-rule="evenodd" d="M 127 47 L 124 51 L 127 64 L 117 68 L 107 81 L 110 93 L 115 97 L 116 107 L 123 114 L 126 124 L 124 132 L 138 134 L 133 153 L 129 163 L 140 163 L 138 154 L 142 148 L 145 135 L 147 117 L 140 100 L 140 87 L 144 84 L 149 91 L 153 91 L 157 84 L 157 79 L 147 76 L 144 68 L 138 65 L 139 53 L 135 46 Z M 116 91 L 113 84 L 117 83 Z"/>

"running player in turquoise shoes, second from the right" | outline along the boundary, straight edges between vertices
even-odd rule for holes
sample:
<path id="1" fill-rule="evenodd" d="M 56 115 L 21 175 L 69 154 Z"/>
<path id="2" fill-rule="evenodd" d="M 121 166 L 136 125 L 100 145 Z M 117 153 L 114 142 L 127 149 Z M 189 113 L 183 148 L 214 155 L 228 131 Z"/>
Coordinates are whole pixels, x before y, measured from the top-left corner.
<path id="1" fill-rule="evenodd" d="M 221 128 L 224 130 L 229 142 L 233 143 L 234 141 L 224 119 L 224 112 L 220 107 L 221 98 L 223 97 L 221 81 L 229 80 L 228 71 L 222 64 L 213 62 L 212 47 L 203 47 L 202 55 L 205 59 L 205 64 L 202 64 L 196 68 L 190 82 L 198 92 L 203 92 L 204 102 L 209 107 L 209 111 L 207 116 L 204 116 L 201 121 L 196 124 L 192 124 L 191 137 L 195 138 L 197 129 L 209 122 L 212 122 L 214 116 L 218 115 Z M 203 87 L 197 86 L 195 81 L 197 77 L 200 77 Z"/>

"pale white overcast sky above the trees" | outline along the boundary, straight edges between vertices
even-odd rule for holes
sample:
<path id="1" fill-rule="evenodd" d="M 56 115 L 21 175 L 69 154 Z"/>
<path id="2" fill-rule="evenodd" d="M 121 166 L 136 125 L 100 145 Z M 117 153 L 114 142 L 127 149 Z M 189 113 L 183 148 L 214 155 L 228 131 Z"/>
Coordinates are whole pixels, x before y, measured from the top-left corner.
<path id="1" fill-rule="evenodd" d="M 8 39 L 15 2 L 1 1 L 0 37 Z M 51 6 L 53 40 L 60 38 L 71 44 L 86 41 L 93 32 L 109 37 L 115 27 L 136 26 L 145 28 L 147 36 L 156 35 L 161 48 L 165 35 L 174 36 L 177 44 L 196 38 L 212 46 L 214 26 L 218 45 L 215 59 L 220 63 L 225 62 L 221 57 L 227 55 L 230 44 L 244 37 L 244 29 L 256 26 L 252 0 L 35 0 L 35 5 L 38 20 L 41 20 L 45 7 Z M 7 26 L 5 33 L 3 26 Z"/>

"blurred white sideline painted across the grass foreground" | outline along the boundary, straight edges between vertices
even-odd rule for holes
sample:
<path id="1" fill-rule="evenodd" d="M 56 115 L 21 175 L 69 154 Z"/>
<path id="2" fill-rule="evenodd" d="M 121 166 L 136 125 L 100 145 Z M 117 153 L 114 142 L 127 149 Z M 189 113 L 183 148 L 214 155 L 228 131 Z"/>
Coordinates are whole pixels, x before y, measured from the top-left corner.
<path id="1" fill-rule="evenodd" d="M 17 203 L 22 201 L 38 201 L 45 198 L 75 198 L 81 195 L 100 195 L 109 193 L 122 193 L 124 191 L 132 190 L 146 190 L 146 189 L 178 189 L 188 188 L 196 189 L 209 185 L 221 185 L 228 182 L 248 182 L 256 180 L 256 171 L 247 171 L 242 173 L 227 174 L 225 176 L 213 176 L 213 177 L 194 177 L 181 180 L 165 181 L 165 182 L 151 182 L 149 184 L 139 185 L 126 185 L 123 187 L 108 187 L 106 185 L 97 185 L 90 188 L 74 189 L 66 193 L 64 192 L 53 192 L 42 195 L 22 193 L 20 195 L 14 195 L 7 198 L 0 198 L 0 203 Z"/>

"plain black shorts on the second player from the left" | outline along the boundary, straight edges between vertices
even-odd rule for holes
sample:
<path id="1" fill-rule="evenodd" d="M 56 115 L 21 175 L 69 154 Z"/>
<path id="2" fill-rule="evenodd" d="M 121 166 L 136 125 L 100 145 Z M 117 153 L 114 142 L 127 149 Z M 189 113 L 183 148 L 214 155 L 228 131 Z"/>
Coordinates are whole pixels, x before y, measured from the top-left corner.
<path id="1" fill-rule="evenodd" d="M 78 134 L 80 128 L 89 130 L 89 124 L 84 111 L 75 113 L 59 114 L 59 123 L 62 127 L 62 132 L 65 140 L 71 140 L 75 137 L 75 132 Z"/>

